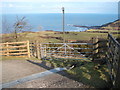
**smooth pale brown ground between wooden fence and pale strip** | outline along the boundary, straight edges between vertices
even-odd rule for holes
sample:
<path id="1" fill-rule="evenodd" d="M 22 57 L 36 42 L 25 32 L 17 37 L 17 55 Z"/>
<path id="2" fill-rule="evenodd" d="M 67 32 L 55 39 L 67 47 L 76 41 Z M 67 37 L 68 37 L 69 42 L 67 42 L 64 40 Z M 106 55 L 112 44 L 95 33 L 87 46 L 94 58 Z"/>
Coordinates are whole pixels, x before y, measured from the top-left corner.
<path id="1" fill-rule="evenodd" d="M 41 61 L 34 62 L 41 63 Z M 4 60 L 0 63 L 2 63 L 2 83 L 10 82 L 46 70 L 27 60 Z"/>

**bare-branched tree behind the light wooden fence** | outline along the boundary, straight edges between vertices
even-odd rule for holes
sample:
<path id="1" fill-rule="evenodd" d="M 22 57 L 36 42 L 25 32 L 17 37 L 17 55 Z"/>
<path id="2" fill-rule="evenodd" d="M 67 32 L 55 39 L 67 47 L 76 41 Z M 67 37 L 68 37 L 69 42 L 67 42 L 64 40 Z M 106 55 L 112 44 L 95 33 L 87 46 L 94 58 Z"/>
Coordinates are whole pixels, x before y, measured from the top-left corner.
<path id="1" fill-rule="evenodd" d="M 26 17 L 19 18 L 18 16 L 16 17 L 16 22 L 13 25 L 14 30 L 13 30 L 13 37 L 16 41 L 18 41 L 18 33 L 23 32 L 23 31 L 28 31 L 31 30 L 32 27 L 28 25 L 26 21 Z"/>

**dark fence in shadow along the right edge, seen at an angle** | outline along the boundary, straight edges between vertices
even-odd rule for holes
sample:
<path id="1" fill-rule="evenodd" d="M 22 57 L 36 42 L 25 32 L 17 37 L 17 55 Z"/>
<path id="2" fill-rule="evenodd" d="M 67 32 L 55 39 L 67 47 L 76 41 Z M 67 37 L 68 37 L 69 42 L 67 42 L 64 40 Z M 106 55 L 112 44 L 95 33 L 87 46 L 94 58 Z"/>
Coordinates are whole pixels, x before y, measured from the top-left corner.
<path id="1" fill-rule="evenodd" d="M 120 87 L 120 43 L 108 34 L 108 67 L 114 87 Z"/>

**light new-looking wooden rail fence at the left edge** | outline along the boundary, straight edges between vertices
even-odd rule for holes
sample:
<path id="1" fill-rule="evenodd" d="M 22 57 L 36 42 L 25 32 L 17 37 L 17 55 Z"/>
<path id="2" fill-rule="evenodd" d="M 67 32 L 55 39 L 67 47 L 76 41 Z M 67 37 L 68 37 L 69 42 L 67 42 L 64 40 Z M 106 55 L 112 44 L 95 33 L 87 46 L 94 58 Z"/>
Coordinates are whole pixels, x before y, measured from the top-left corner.
<path id="1" fill-rule="evenodd" d="M 0 43 L 0 56 L 30 57 L 29 41 Z"/>

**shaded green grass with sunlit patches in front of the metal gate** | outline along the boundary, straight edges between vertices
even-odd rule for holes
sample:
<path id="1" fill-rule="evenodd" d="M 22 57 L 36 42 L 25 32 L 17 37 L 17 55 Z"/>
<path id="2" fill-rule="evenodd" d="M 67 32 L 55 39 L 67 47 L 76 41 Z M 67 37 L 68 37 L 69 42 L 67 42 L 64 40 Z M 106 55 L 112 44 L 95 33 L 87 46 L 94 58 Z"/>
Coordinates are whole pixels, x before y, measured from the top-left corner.
<path id="1" fill-rule="evenodd" d="M 73 79 L 94 88 L 111 87 L 107 65 L 101 65 L 100 68 L 96 69 L 95 67 L 98 64 L 91 61 L 59 58 L 52 58 L 45 61 L 51 63 L 54 67 L 68 67 L 73 63 L 77 64 L 77 67 L 66 71 L 72 75 Z"/>

